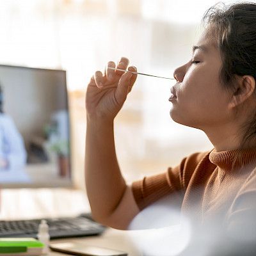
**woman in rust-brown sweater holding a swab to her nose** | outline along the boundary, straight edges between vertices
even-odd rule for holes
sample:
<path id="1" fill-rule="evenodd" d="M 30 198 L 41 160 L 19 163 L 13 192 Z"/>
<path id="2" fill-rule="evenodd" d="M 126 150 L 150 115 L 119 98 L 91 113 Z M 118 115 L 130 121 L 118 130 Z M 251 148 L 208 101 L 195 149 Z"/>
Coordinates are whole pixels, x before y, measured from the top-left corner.
<path id="1" fill-rule="evenodd" d="M 178 166 L 131 186 L 116 159 L 113 122 L 136 74 L 110 68 L 104 74 L 95 72 L 86 90 L 85 175 L 97 221 L 127 229 L 146 207 L 170 196 L 169 204 L 177 203 L 193 225 L 211 227 L 207 234 L 218 227 L 223 234 L 237 235 L 239 241 L 255 243 L 255 20 L 256 3 L 215 5 L 205 13 L 204 32 L 193 47 L 191 60 L 173 73 L 177 83 L 169 101 L 171 118 L 204 131 L 213 149 L 195 152 Z M 121 58 L 117 68 L 128 65 L 129 60 Z M 116 66 L 109 61 L 108 67 Z M 136 72 L 135 67 L 128 70 Z"/>

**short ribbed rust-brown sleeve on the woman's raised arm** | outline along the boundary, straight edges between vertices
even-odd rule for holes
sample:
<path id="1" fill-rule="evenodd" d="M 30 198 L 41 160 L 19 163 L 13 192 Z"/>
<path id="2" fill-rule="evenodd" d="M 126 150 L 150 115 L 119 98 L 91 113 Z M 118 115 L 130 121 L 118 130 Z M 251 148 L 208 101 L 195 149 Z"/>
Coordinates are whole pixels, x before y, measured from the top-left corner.
<path id="1" fill-rule="evenodd" d="M 167 172 L 133 182 L 132 193 L 140 211 L 171 193 L 183 196 L 196 166 L 208 153 L 192 154 L 182 159 L 178 166 L 168 168 Z"/>

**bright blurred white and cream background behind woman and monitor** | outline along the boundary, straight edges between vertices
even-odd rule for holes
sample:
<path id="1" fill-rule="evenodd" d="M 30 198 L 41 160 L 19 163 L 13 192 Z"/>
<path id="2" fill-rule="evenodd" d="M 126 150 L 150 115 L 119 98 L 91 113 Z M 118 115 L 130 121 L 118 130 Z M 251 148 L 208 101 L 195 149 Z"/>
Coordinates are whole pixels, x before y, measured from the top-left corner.
<path id="1" fill-rule="evenodd" d="M 77 188 L 84 188 L 84 95 L 90 77 L 122 56 L 138 72 L 172 77 L 174 69 L 191 58 L 202 16 L 215 3 L 1 0 L 0 63 L 67 70 Z M 188 154 L 212 148 L 204 132 L 171 120 L 168 98 L 174 83 L 138 76 L 116 118 L 116 152 L 128 182 L 165 172 Z"/>

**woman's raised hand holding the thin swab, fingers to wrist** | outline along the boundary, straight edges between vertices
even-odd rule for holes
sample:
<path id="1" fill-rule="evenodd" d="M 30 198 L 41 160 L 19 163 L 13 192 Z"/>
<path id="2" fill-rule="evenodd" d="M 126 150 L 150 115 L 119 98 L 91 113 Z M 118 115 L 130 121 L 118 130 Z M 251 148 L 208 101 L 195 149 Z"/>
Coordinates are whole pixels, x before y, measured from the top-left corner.
<path id="1" fill-rule="evenodd" d="M 117 68 L 126 69 L 127 58 L 121 58 Z M 115 68 L 115 62 L 109 61 L 108 67 Z M 104 75 L 97 71 L 88 84 L 86 91 L 86 112 L 89 118 L 113 120 L 122 108 L 127 94 L 136 81 L 136 74 L 106 68 Z M 128 70 L 136 72 L 135 67 Z"/>

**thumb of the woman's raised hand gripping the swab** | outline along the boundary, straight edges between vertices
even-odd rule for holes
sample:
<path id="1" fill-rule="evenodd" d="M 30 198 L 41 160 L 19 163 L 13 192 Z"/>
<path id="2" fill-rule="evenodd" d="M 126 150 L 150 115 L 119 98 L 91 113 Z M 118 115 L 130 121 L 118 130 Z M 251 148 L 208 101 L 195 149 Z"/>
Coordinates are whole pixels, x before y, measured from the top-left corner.
<path id="1" fill-rule="evenodd" d="M 120 105 L 124 104 L 124 101 L 127 97 L 131 77 L 132 73 L 127 72 L 123 74 L 119 80 L 118 86 L 115 91 L 115 97 L 116 101 Z"/>

